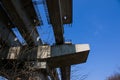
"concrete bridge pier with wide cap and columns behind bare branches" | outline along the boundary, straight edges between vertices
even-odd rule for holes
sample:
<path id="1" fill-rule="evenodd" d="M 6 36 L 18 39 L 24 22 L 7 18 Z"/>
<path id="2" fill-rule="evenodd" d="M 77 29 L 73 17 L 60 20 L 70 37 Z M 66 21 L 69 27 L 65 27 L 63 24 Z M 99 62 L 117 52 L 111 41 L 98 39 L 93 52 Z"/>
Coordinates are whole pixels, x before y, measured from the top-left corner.
<path id="1" fill-rule="evenodd" d="M 4 56 L 0 56 L 0 67 L 4 66 L 6 70 L 12 69 L 15 75 L 28 75 L 27 78 L 29 78 L 29 75 L 30 77 L 33 75 L 33 78 L 38 78 L 37 80 L 40 80 L 40 78 L 47 80 L 48 75 L 53 80 L 59 80 L 55 68 L 61 68 L 62 80 L 70 80 L 70 66 L 86 62 L 90 48 L 88 44 L 70 44 L 43 45 L 32 48 L 29 51 L 21 50 L 23 50 L 22 47 L 10 47 L 8 53 L 3 54 L 2 51 L 0 55 Z M 36 74 L 36 72 L 38 73 Z M 19 75 L 13 76 L 13 78 L 16 77 L 19 77 Z"/>

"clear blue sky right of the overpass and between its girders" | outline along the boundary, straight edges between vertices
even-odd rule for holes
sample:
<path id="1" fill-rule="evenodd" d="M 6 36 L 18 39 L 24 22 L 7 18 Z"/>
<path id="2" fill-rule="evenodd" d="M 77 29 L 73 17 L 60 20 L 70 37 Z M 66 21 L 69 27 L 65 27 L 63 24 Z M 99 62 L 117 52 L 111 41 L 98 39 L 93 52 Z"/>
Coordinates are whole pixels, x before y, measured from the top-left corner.
<path id="1" fill-rule="evenodd" d="M 44 33 L 51 30 L 47 27 L 41 29 L 41 34 L 49 36 L 50 32 Z M 118 71 L 120 0 L 73 0 L 73 23 L 64 28 L 66 40 L 91 47 L 87 62 L 72 67 L 71 80 L 79 80 L 83 74 L 88 75 L 85 80 L 106 80 Z"/>

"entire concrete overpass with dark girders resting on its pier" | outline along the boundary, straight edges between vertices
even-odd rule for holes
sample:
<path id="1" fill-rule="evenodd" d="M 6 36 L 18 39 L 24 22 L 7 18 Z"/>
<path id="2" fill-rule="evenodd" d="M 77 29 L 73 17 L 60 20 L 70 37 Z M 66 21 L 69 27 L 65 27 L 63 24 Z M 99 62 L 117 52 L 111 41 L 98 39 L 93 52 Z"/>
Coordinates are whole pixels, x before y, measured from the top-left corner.
<path id="1" fill-rule="evenodd" d="M 44 4 L 49 24 L 52 25 L 55 45 L 45 45 L 37 40 L 36 26 L 42 26 L 34 5 Z M 18 74 L 26 68 L 33 71 L 33 77 L 42 80 L 59 80 L 56 68 L 61 70 L 61 79 L 70 80 L 71 65 L 85 63 L 90 51 L 89 45 L 66 44 L 64 24 L 72 24 L 72 0 L 0 0 L 0 67 L 10 74 L 17 66 Z M 25 39 L 25 45 L 16 40 L 12 31 L 17 28 Z M 8 36 L 9 35 L 9 36 Z M 6 38 L 7 37 L 7 38 Z M 43 54 L 44 53 L 44 54 Z M 13 65 L 14 64 L 14 65 Z M 32 66 L 31 66 L 32 65 Z M 27 72 L 27 71 L 26 71 Z M 26 73 L 27 75 L 30 75 Z M 1 74 L 3 75 L 3 74 Z M 4 74 L 7 78 L 7 75 Z M 9 78 L 11 80 L 17 77 Z M 49 76 L 49 77 L 48 77 Z M 30 77 L 27 77 L 29 79 Z"/>

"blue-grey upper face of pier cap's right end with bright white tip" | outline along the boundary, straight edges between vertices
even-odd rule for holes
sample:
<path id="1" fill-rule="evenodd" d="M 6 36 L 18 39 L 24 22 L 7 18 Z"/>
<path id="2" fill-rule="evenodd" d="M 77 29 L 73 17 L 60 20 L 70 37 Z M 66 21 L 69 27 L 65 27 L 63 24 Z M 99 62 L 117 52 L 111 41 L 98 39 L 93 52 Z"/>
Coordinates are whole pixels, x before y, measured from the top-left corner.
<path id="1" fill-rule="evenodd" d="M 51 48 L 51 56 L 62 56 L 90 50 L 88 44 L 56 45 Z"/>

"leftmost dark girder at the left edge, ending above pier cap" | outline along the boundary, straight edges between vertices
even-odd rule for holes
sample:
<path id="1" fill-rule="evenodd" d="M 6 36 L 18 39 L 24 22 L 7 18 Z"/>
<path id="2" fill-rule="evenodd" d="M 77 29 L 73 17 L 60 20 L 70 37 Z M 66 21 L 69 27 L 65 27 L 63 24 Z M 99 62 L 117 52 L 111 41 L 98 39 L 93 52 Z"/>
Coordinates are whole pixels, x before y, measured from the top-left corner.
<path id="1" fill-rule="evenodd" d="M 10 26 L 13 26 L 13 24 L 0 5 L 0 38 L 7 44 L 7 46 L 20 46 L 19 41 L 15 41 L 16 37 L 10 30 Z"/>

